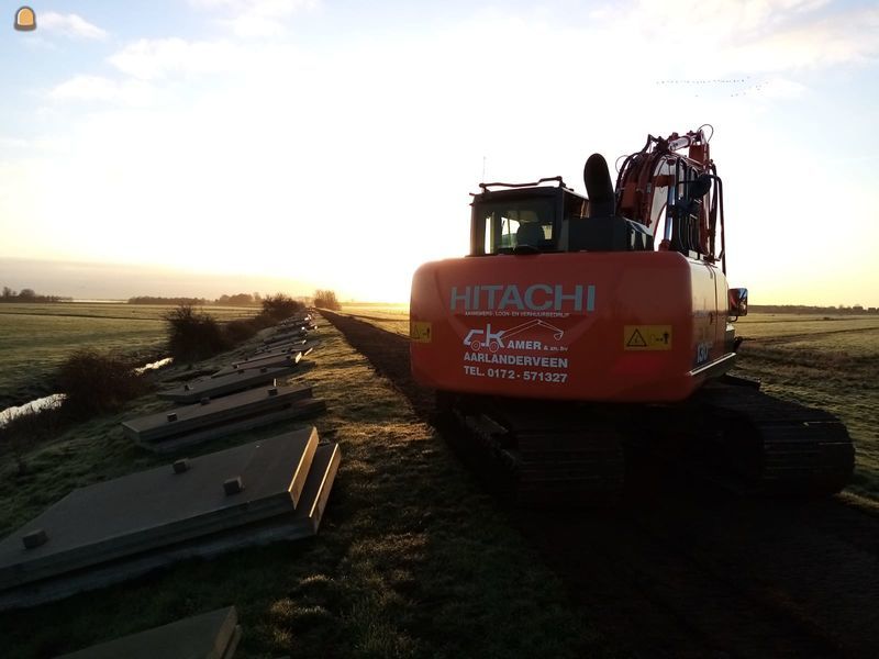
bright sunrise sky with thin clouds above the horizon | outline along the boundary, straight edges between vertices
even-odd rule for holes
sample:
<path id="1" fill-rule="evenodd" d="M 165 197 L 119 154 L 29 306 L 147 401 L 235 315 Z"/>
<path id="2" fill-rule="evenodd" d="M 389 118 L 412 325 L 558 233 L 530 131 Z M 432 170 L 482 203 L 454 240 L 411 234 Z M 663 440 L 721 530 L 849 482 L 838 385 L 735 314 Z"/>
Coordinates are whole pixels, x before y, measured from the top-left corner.
<path id="1" fill-rule="evenodd" d="M 405 301 L 480 181 L 583 192 L 591 153 L 708 123 L 731 286 L 879 306 L 875 1 L 29 5 L 0 4 L 2 286 Z"/>

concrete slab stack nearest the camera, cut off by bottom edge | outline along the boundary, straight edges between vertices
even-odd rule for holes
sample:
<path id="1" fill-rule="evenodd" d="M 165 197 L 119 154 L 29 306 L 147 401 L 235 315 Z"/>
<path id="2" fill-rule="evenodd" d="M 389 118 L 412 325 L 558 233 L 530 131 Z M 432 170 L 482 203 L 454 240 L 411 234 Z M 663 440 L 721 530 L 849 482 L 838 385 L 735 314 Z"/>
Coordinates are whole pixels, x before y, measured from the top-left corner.
<path id="1" fill-rule="evenodd" d="M 57 659 L 231 659 L 241 640 L 234 606 L 91 646 Z"/>

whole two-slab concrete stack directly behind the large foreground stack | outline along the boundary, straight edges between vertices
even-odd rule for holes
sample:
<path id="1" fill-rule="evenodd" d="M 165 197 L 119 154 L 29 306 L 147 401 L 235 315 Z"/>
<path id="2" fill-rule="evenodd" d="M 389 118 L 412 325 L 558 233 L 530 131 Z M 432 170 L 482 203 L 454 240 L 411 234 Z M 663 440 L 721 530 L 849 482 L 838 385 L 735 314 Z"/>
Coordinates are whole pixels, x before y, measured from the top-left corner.
<path id="1" fill-rule="evenodd" d="M 168 453 L 262 427 L 288 418 L 323 412 L 310 387 L 270 387 L 233 393 L 216 400 L 203 398 L 171 412 L 148 414 L 122 423 L 125 436 L 156 453 Z"/>

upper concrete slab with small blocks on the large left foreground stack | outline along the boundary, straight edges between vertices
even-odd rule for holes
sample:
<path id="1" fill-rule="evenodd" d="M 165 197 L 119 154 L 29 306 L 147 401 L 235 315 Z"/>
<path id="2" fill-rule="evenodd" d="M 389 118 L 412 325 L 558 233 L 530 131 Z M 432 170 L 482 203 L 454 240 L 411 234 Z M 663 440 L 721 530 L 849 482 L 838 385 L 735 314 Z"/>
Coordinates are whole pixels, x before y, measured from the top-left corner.
<path id="1" fill-rule="evenodd" d="M 316 447 L 312 427 L 74 490 L 0 541 L 0 590 L 291 513 Z M 25 548 L 37 529 L 47 541 Z"/>

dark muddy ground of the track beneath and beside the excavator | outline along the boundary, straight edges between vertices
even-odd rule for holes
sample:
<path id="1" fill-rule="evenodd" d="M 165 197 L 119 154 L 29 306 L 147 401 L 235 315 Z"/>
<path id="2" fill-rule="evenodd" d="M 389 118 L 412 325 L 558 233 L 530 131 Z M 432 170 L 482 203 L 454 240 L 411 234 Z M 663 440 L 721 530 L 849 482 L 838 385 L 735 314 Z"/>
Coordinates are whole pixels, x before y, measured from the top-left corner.
<path id="1" fill-rule="evenodd" d="M 405 337 L 325 315 L 431 418 Z M 879 656 L 879 509 L 864 500 L 755 499 L 659 465 L 603 509 L 505 513 L 635 656 Z"/>

